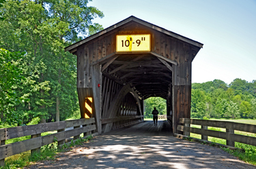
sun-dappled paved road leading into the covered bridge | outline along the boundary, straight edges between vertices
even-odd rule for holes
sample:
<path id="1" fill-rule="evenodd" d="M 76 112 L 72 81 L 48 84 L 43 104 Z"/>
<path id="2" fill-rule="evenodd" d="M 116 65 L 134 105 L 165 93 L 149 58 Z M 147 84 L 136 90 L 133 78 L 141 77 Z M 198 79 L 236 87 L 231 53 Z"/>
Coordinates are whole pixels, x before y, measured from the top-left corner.
<path id="1" fill-rule="evenodd" d="M 256 168 L 208 145 L 172 136 L 167 121 L 113 130 L 30 168 Z"/>

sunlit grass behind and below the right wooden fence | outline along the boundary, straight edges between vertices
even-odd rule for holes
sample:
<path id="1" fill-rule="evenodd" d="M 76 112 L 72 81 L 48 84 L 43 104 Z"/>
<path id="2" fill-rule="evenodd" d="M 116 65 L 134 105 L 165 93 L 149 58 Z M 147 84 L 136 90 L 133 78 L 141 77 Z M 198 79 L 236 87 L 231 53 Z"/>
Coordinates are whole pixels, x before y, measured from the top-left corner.
<path id="1" fill-rule="evenodd" d="M 211 119 L 211 120 L 221 120 L 221 121 L 233 121 L 236 123 L 243 123 L 243 124 L 254 124 L 256 125 L 256 120 L 255 119 Z M 193 128 L 201 128 L 201 126 L 198 125 L 191 125 Z M 220 131 L 220 132 L 225 132 L 225 128 L 213 128 L 213 127 L 208 127 L 208 130 L 215 130 L 215 131 Z M 241 132 L 235 130 L 235 134 L 241 134 L 245 136 L 253 136 L 256 137 L 256 134 L 249 133 L 249 132 Z M 193 138 L 199 138 L 201 139 L 201 134 L 194 134 L 190 133 L 190 137 Z M 211 136 L 208 136 L 208 140 L 214 142 L 214 143 L 220 143 L 222 145 L 226 145 L 226 140 L 221 139 L 221 138 L 214 138 Z M 248 162 L 249 164 L 256 165 L 256 147 L 253 145 L 246 145 L 243 143 L 235 143 L 235 147 L 238 147 L 240 149 L 244 149 L 244 153 L 240 151 L 231 151 L 228 148 L 221 148 L 228 153 L 231 153 L 232 155 L 239 157 L 239 159 L 242 159 L 244 162 Z"/>

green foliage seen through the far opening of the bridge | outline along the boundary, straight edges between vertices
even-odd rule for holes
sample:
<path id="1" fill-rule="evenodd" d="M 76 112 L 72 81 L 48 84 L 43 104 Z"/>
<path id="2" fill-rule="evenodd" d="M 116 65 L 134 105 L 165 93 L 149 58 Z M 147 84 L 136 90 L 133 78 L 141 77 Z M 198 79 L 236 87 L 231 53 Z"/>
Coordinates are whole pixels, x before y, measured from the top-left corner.
<path id="1" fill-rule="evenodd" d="M 152 111 L 156 107 L 159 115 L 167 114 L 166 100 L 160 97 L 151 97 L 145 100 L 145 118 L 152 118 Z"/>

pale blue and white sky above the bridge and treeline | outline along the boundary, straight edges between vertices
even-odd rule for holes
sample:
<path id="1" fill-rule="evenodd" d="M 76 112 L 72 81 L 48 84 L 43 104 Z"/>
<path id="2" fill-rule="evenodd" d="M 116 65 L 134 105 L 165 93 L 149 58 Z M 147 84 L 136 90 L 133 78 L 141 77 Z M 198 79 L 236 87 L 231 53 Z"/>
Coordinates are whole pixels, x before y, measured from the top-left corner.
<path id="1" fill-rule="evenodd" d="M 135 16 L 203 43 L 192 83 L 256 79 L 256 0 L 93 0 L 105 28 Z"/>

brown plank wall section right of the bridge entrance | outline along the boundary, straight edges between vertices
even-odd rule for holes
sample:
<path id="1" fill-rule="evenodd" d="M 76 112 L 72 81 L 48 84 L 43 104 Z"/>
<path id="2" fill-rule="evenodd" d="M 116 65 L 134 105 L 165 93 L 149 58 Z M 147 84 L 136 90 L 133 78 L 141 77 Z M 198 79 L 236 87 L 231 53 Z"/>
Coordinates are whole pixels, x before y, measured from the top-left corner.
<path id="1" fill-rule="evenodd" d="M 177 131 L 180 118 L 190 118 L 191 98 L 191 62 L 192 52 L 190 45 L 175 42 L 173 52 L 177 65 L 173 65 L 173 132 Z"/>

